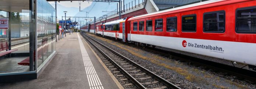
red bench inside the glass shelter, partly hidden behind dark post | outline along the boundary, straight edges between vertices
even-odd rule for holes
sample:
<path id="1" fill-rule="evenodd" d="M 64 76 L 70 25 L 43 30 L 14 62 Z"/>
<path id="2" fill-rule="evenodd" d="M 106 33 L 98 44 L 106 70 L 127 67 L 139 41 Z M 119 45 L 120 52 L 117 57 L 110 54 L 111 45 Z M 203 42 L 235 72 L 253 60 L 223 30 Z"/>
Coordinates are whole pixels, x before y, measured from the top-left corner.
<path id="1" fill-rule="evenodd" d="M 47 49 L 48 49 L 48 47 L 49 47 L 49 46 L 48 46 L 49 44 L 46 44 L 46 43 L 47 43 L 47 39 L 46 39 L 46 38 L 45 38 L 45 39 L 42 39 L 42 46 L 38 48 L 38 57 L 37 57 L 37 58 L 42 57 L 42 54 L 45 54 L 45 53 L 47 52 Z M 35 53 L 35 52 L 36 52 L 36 51 L 34 51 L 34 53 L 33 53 L 33 55 L 34 55 L 34 58 L 33 58 L 34 62 L 35 62 L 35 60 L 36 60 L 36 57 L 35 57 L 36 53 Z M 29 66 L 29 57 L 26 58 L 26 59 L 24 59 L 23 61 L 19 62 L 18 65 L 26 65 L 26 66 Z"/>

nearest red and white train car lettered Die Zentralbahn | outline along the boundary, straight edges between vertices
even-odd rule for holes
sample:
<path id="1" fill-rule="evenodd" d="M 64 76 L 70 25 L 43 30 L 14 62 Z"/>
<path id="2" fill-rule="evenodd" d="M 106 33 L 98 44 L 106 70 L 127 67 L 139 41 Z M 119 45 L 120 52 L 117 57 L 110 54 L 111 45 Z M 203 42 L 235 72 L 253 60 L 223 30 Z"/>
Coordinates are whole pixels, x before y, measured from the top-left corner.
<path id="1" fill-rule="evenodd" d="M 209 0 L 128 20 L 128 40 L 256 65 L 256 0 Z"/>

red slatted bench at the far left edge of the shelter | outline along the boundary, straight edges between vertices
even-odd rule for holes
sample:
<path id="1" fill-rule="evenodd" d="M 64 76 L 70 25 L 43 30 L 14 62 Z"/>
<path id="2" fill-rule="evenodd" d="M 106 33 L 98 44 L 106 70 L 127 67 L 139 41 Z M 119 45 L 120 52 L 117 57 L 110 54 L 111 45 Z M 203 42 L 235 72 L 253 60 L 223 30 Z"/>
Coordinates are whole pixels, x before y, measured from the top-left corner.
<path id="1" fill-rule="evenodd" d="M 4 51 L 4 50 L 8 50 L 9 49 L 9 46 L 8 46 L 8 43 L 7 42 L 2 42 L 0 43 L 0 51 Z M 0 57 L 1 56 L 4 56 L 6 54 L 10 54 L 14 51 L 17 51 L 17 49 L 14 49 L 14 50 L 8 50 L 8 51 L 4 51 L 3 53 L 0 53 Z"/>

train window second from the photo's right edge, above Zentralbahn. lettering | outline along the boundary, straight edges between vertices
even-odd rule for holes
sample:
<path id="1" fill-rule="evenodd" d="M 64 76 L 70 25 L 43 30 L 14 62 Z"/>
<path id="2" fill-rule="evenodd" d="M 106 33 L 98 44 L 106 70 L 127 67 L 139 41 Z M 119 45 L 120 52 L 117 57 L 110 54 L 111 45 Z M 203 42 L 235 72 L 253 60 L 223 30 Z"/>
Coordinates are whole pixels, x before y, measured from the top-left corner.
<path id="1" fill-rule="evenodd" d="M 225 31 L 225 12 L 209 12 L 203 15 L 204 32 L 224 32 Z"/>

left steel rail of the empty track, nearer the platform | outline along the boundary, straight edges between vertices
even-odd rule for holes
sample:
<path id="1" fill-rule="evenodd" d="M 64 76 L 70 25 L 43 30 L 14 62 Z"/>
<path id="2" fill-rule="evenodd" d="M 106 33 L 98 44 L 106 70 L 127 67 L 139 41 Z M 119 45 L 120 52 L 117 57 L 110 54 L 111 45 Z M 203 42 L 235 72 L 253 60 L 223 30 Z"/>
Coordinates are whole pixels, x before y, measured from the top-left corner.
<path id="1" fill-rule="evenodd" d="M 83 38 L 85 38 L 84 35 L 82 35 Z M 97 47 L 94 43 L 92 43 L 89 39 L 85 38 L 86 40 L 88 40 L 97 50 L 100 51 L 100 53 L 102 53 L 103 55 L 105 55 L 106 58 L 108 58 L 115 66 L 118 67 L 119 70 L 122 71 L 122 73 L 124 73 L 128 78 L 130 78 L 132 80 L 132 82 L 135 83 L 135 85 L 140 88 L 140 89 L 146 89 L 145 86 L 143 86 L 141 83 L 139 83 L 139 81 L 137 81 L 134 77 L 132 77 L 127 71 L 125 71 L 121 66 L 119 66 L 113 59 L 111 59 L 107 54 L 105 54 L 102 50 L 99 49 L 99 47 Z M 92 39 L 92 38 L 91 38 Z M 93 39 L 94 40 L 94 39 Z M 95 40 L 94 40 L 95 41 Z M 97 42 L 98 43 L 98 42 Z M 100 44 L 100 43 L 99 43 Z M 102 44 L 100 44 L 102 45 Z M 106 47 L 104 45 L 102 45 L 103 47 Z"/>

